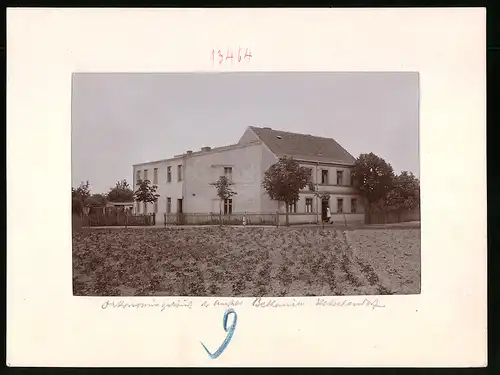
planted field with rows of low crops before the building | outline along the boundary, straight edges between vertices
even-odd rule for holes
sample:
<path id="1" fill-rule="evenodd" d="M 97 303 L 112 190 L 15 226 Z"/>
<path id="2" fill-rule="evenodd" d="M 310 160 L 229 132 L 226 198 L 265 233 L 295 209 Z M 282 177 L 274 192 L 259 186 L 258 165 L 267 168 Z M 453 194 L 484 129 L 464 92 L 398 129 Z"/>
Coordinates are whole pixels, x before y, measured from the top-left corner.
<path id="1" fill-rule="evenodd" d="M 420 292 L 420 230 L 93 229 L 73 234 L 75 295 Z M 388 270 L 392 270 L 389 272 Z"/>

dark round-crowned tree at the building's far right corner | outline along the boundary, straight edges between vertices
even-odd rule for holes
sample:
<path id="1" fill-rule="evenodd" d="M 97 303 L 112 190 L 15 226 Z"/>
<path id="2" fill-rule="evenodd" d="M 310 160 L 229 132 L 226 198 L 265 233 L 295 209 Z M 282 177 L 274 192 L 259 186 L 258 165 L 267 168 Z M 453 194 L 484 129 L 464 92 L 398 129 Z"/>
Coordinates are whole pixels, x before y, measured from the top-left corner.
<path id="1" fill-rule="evenodd" d="M 394 183 L 392 166 L 372 152 L 359 156 L 354 163 L 351 176 L 353 186 L 365 199 L 368 215 L 378 202 L 386 200 Z"/>

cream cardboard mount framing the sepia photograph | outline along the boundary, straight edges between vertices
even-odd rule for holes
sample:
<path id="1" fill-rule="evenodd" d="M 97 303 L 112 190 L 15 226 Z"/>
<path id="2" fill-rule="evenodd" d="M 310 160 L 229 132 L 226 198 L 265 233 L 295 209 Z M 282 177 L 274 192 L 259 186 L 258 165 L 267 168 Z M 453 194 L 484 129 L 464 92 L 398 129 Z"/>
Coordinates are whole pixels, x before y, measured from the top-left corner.
<path id="1" fill-rule="evenodd" d="M 485 366 L 485 21 L 484 8 L 7 9 L 7 364 Z M 227 306 L 118 313 L 72 297 L 70 200 L 39 197 L 69 195 L 72 72 L 212 71 L 209 51 L 238 44 L 258 56 L 246 71 L 420 72 L 422 293 L 381 297 L 383 309 L 245 303 L 214 360 L 200 342 L 223 342 Z M 26 181 L 47 171 L 33 193 Z"/>

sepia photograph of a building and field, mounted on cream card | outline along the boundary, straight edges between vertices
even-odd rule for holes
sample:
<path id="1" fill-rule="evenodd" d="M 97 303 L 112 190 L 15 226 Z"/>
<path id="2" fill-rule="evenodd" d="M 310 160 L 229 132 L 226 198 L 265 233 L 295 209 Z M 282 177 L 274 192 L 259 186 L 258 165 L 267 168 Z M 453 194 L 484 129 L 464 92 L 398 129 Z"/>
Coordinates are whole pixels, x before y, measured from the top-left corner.
<path id="1" fill-rule="evenodd" d="M 73 294 L 419 294 L 419 95 L 417 72 L 73 74 Z"/>

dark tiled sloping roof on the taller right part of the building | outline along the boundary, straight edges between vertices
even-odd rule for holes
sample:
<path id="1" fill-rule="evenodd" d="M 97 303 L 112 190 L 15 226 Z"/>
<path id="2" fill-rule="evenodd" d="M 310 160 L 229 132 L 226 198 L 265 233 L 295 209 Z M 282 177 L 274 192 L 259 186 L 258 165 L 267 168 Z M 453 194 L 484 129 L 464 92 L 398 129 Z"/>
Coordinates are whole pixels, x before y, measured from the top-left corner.
<path id="1" fill-rule="evenodd" d="M 356 159 L 332 138 L 290 133 L 271 128 L 250 129 L 278 157 L 288 155 L 306 161 L 352 165 Z"/>

